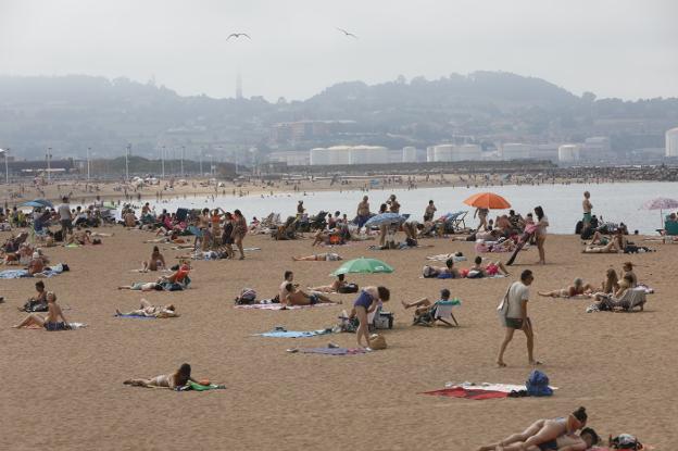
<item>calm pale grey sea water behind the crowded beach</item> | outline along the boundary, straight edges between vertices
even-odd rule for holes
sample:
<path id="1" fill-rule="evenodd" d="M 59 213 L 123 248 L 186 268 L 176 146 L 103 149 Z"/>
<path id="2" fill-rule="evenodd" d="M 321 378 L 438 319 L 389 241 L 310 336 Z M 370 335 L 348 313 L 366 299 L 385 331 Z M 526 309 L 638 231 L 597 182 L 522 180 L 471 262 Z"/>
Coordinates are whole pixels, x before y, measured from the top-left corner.
<path id="1" fill-rule="evenodd" d="M 281 213 L 285 220 L 287 215 L 293 215 L 297 211 L 297 202 L 303 200 L 306 210 L 315 214 L 321 210 L 340 211 L 347 213 L 350 218 L 355 215 L 357 202 L 364 195 L 369 197 L 372 211 L 378 211 L 379 204 L 387 200 L 389 195 L 394 193 L 401 203 L 401 213 L 410 213 L 419 218 L 424 215 L 424 209 L 429 200 L 434 200 L 438 208 L 438 215 L 459 210 L 468 210 L 466 225 L 477 224 L 473 220 L 473 209 L 463 203 L 467 197 L 482 191 L 492 191 L 503 196 L 520 214 L 532 211 L 541 205 L 549 217 L 551 226 L 549 231 L 556 234 L 574 233 L 577 221 L 581 218 L 581 200 L 583 191 L 591 192 L 593 214 L 605 221 L 624 222 L 629 231 L 638 229 L 641 234 L 652 234 L 658 228 L 661 216 L 658 211 L 642 210 L 642 204 L 657 197 L 678 196 L 678 183 L 619 183 L 599 185 L 540 185 L 540 186 L 503 186 L 490 188 L 420 188 L 406 189 L 372 189 L 363 191 L 321 191 L 300 193 L 284 193 L 275 196 L 247 196 L 233 197 L 219 196 L 212 198 L 191 197 L 170 199 L 155 203 L 156 209 L 175 211 L 179 206 L 198 209 L 221 206 L 226 211 L 240 209 L 250 221 L 252 216 L 263 217 L 271 212 Z M 154 203 L 154 202 L 153 202 Z M 153 204 L 152 203 L 152 204 Z M 503 211 L 506 212 L 507 211 Z M 502 211 L 493 211 L 490 217 L 494 217 Z"/>

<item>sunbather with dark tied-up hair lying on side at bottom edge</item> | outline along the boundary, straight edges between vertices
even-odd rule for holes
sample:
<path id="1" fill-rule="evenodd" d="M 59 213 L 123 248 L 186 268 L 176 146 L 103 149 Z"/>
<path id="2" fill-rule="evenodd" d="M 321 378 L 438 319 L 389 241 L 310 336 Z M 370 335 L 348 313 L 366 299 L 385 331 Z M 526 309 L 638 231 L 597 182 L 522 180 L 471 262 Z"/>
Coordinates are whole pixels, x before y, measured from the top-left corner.
<path id="1" fill-rule="evenodd" d="M 579 408 L 566 417 L 538 419 L 523 433 L 508 436 L 497 443 L 480 447 L 477 451 L 557 450 L 556 440 L 582 429 L 586 426 L 587 418 L 586 409 Z M 586 447 L 580 444 L 570 448 L 570 450 L 585 451 Z"/>

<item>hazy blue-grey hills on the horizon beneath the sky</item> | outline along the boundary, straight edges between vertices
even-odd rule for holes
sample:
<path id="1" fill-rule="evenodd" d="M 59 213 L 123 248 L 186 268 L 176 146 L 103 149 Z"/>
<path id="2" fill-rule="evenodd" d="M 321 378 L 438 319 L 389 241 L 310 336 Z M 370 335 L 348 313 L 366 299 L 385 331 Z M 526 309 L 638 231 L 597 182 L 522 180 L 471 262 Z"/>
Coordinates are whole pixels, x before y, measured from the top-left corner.
<path id="1" fill-rule="evenodd" d="M 272 139 L 276 123 L 349 120 L 351 125 L 313 138 Z M 625 102 L 577 97 L 540 78 L 503 72 L 452 74 L 436 80 L 366 85 L 340 83 L 305 101 L 183 97 L 127 78 L 72 75 L 0 76 L 0 147 L 17 158 L 120 155 L 158 158 L 165 146 L 226 158 L 251 147 L 262 151 L 335 143 L 424 147 L 476 141 L 581 140 L 611 136 L 630 150 L 661 141 L 678 125 L 678 99 Z M 230 152 L 230 153 L 228 153 Z M 249 153 L 244 152 L 246 155 Z"/>

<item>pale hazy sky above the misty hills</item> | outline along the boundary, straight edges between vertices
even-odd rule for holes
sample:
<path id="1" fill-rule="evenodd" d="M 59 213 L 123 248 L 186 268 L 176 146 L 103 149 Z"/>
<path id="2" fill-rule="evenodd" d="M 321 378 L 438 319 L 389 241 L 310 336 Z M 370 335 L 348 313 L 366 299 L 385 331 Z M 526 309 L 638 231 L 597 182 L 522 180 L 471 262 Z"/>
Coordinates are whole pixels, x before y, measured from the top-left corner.
<path id="1" fill-rule="evenodd" d="M 359 36 L 342 36 L 336 27 Z M 252 36 L 226 41 L 234 32 Z M 304 99 L 343 80 L 506 71 L 678 97 L 677 0 L 0 0 L 0 74 Z"/>

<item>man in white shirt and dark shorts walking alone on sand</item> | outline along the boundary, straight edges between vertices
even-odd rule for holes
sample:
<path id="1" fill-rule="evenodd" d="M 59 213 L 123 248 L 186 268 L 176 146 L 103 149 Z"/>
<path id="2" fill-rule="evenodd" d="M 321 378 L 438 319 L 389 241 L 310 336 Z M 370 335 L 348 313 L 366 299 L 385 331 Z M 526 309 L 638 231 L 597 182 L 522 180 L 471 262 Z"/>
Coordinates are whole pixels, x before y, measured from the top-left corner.
<path id="1" fill-rule="evenodd" d="M 527 360 L 529 364 L 540 364 L 540 362 L 535 360 L 535 334 L 532 330 L 532 323 L 527 315 L 527 302 L 529 301 L 528 287 L 533 280 L 535 277 L 532 276 L 532 272 L 530 270 L 525 270 L 520 274 L 520 280 L 511 284 L 511 287 L 508 287 L 506 296 L 500 305 L 505 335 L 497 358 L 497 364 L 499 366 L 506 366 L 504 363 L 504 352 L 506 351 L 506 347 L 513 339 L 513 334 L 516 330 L 523 330 L 525 337 L 527 338 Z"/>

